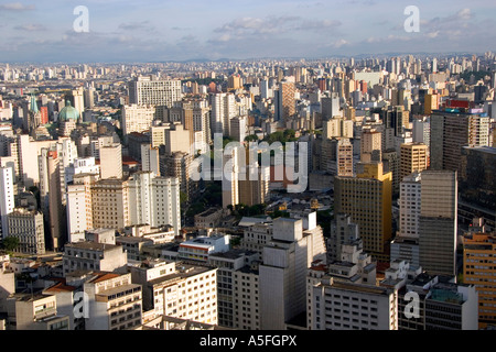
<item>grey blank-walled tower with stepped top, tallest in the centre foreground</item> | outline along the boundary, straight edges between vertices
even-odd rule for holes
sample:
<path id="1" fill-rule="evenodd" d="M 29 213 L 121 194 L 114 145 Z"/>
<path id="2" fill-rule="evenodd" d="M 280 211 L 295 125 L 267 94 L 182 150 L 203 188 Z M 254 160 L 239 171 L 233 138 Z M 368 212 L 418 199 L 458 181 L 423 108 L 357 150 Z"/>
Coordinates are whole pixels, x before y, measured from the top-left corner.
<path id="1" fill-rule="evenodd" d="M 285 324 L 305 311 L 306 270 L 325 257 L 322 229 L 316 213 L 308 219 L 273 220 L 273 237 L 263 248 L 259 266 L 260 329 L 283 330 Z"/>

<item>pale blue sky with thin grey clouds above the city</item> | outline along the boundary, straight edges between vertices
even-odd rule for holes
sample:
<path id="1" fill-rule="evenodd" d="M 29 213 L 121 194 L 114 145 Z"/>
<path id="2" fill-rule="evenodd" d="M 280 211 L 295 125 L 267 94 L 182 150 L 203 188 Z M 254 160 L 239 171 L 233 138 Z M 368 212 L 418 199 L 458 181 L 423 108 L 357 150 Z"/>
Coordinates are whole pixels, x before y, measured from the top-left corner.
<path id="1" fill-rule="evenodd" d="M 88 10 L 88 32 L 75 30 L 78 6 Z M 419 9 L 418 32 L 405 30 L 409 6 Z M 488 51 L 496 51 L 494 0 L 0 0 L 2 63 Z"/>

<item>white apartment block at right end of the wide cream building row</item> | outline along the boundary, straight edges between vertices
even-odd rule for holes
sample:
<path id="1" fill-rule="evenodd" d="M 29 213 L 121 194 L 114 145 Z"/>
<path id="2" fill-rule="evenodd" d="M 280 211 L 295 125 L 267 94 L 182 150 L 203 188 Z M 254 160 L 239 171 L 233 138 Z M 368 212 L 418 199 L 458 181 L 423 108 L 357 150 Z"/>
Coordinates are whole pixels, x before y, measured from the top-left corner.
<path id="1" fill-rule="evenodd" d="M 172 226 L 181 231 L 180 182 L 174 177 L 159 177 L 151 172 L 132 175 L 129 186 L 129 217 L 131 224 L 147 223 L 153 228 Z"/>

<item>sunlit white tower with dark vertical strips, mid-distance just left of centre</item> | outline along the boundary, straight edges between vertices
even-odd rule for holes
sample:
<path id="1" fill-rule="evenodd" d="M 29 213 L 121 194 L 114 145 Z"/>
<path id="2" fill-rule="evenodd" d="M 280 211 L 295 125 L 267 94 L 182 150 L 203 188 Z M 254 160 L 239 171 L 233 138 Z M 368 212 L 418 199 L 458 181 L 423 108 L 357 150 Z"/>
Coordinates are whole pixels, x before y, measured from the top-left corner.
<path id="1" fill-rule="evenodd" d="M 215 133 L 229 135 L 229 120 L 238 114 L 235 96 L 233 94 L 225 92 L 212 95 L 211 105 L 212 135 Z"/>

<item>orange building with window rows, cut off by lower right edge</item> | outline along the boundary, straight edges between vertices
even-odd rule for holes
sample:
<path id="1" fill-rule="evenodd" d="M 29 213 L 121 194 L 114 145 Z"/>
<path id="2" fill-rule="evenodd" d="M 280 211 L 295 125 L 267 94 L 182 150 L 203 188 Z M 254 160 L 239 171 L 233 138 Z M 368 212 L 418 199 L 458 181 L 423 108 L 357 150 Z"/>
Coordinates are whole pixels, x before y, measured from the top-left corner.
<path id="1" fill-rule="evenodd" d="M 478 327 L 496 326 L 496 232 L 463 239 L 463 282 L 478 293 Z"/>

